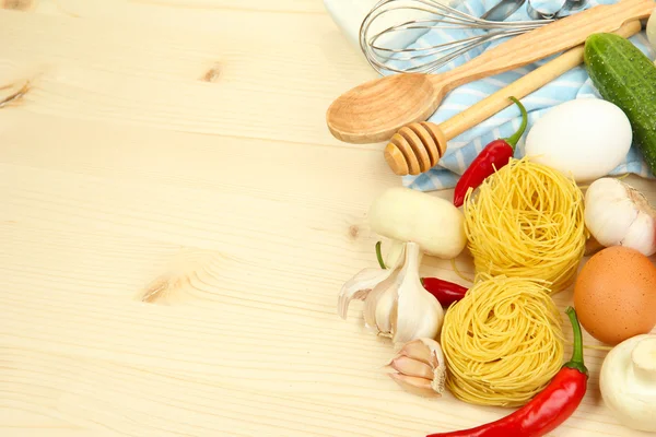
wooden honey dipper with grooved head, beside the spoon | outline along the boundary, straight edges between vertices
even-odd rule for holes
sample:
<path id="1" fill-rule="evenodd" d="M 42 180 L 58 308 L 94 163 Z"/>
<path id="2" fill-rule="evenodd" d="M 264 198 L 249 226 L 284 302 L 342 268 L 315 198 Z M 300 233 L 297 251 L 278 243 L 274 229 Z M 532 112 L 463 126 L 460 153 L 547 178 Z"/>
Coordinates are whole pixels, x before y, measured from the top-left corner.
<path id="1" fill-rule="evenodd" d="M 635 20 L 613 33 L 628 38 L 640 31 L 640 20 Z M 584 45 L 570 49 L 440 125 L 430 121 L 406 125 L 391 137 L 385 147 L 387 164 L 399 176 L 427 172 L 444 156 L 448 140 L 512 105 L 508 97 L 525 97 L 581 64 L 583 52 Z"/>

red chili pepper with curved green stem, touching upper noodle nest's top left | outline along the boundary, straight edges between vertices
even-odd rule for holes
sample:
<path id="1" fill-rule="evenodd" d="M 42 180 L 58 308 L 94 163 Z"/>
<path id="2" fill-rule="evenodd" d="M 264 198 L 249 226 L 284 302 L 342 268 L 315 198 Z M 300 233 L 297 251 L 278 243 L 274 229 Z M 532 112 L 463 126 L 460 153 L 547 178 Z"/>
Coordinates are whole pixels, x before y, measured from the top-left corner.
<path id="1" fill-rule="evenodd" d="M 522 111 L 522 126 L 513 137 L 492 141 L 478 154 L 469 167 L 465 170 L 454 190 L 454 205 L 460 206 L 465 202 L 465 196 L 469 188 L 475 189 L 480 186 L 495 169 L 506 165 L 515 154 L 515 146 L 526 130 L 528 116 L 524 105 L 515 97 L 509 97 L 519 106 Z"/>

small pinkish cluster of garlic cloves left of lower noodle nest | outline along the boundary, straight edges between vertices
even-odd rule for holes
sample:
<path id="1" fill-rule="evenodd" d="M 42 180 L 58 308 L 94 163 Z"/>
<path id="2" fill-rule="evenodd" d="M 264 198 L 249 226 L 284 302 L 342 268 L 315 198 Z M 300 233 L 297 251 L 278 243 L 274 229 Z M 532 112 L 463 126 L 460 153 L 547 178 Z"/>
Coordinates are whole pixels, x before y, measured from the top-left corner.
<path id="1" fill-rule="evenodd" d="M 405 344 L 388 366 L 396 370 L 389 377 L 406 391 L 425 398 L 442 397 L 446 365 L 435 340 L 422 338 Z"/>

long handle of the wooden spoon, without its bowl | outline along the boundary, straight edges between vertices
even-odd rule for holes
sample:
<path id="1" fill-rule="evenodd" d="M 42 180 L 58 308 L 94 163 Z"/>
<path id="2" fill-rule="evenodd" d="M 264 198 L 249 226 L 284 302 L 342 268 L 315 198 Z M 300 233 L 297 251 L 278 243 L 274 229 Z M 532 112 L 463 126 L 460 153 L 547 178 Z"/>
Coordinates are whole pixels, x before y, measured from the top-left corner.
<path id="1" fill-rule="evenodd" d="M 577 12 L 535 31 L 512 37 L 465 64 L 431 80 L 448 92 L 465 83 L 509 71 L 575 47 L 594 33 L 614 32 L 631 20 L 646 19 L 653 0 L 622 0 Z"/>

